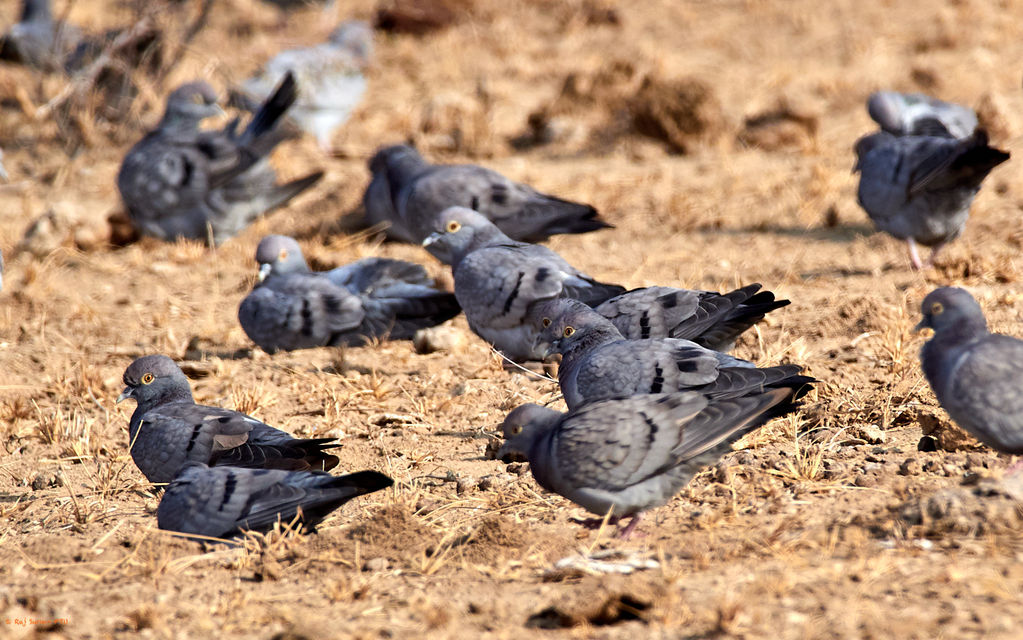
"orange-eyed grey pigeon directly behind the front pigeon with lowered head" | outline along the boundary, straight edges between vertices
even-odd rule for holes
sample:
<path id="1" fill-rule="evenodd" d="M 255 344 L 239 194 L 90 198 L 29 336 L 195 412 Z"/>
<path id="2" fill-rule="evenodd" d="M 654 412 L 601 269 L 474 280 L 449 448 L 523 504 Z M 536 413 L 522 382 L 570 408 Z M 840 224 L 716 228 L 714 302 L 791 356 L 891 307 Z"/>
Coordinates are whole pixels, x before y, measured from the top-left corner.
<path id="1" fill-rule="evenodd" d="M 558 381 L 569 409 L 613 398 L 662 392 L 700 392 L 708 398 L 738 398 L 788 388 L 795 398 L 813 378 L 802 367 L 758 369 L 751 362 L 675 338 L 627 340 L 610 320 L 579 301 L 538 303 L 537 348 L 561 354 Z M 539 327 L 538 327 L 539 328 Z"/>

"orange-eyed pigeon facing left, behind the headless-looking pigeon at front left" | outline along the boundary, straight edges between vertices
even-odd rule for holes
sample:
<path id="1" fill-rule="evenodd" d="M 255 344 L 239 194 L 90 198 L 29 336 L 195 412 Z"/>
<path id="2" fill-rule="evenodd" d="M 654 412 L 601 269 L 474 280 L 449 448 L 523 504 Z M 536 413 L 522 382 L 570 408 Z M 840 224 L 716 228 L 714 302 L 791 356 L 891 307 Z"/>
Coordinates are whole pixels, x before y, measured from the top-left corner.
<path id="1" fill-rule="evenodd" d="M 296 439 L 237 411 L 195 404 L 188 379 L 167 356 L 143 356 L 125 370 L 118 402 L 138 403 L 128 424 L 131 457 L 151 483 L 169 483 L 186 462 L 214 466 L 332 469 L 332 438 Z"/>

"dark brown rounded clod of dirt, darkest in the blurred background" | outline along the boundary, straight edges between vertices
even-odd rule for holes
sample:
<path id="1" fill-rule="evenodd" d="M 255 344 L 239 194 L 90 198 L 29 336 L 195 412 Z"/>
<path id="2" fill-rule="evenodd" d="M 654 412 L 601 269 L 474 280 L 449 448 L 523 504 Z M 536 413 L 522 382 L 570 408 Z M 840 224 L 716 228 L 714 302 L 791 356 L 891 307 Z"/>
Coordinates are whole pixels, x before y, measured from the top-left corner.
<path id="1" fill-rule="evenodd" d="M 696 79 L 649 77 L 629 102 L 636 133 L 660 140 L 678 153 L 713 141 L 724 129 L 721 104 L 710 85 Z"/>

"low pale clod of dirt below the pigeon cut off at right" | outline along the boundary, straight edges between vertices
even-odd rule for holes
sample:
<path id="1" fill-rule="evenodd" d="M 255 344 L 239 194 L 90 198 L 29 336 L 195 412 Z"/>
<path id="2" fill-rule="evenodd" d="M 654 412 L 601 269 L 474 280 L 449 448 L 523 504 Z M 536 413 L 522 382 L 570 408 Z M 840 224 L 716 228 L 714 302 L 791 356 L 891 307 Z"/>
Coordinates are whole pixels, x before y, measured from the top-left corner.
<path id="1" fill-rule="evenodd" d="M 1023 503 L 1013 494 L 1013 487 L 1002 481 L 984 479 L 974 488 L 945 489 L 914 499 L 902 505 L 899 517 L 922 527 L 927 536 L 1018 531 Z"/>

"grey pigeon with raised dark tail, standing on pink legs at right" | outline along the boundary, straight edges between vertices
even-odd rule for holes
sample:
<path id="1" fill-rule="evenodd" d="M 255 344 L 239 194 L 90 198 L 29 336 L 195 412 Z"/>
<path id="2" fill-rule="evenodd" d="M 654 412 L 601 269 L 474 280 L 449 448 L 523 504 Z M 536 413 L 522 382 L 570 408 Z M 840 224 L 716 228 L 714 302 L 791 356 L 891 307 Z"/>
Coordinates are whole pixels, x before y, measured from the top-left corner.
<path id="1" fill-rule="evenodd" d="M 963 233 L 980 183 L 1009 153 L 977 129 L 963 139 L 893 136 L 879 132 L 856 142 L 859 204 L 882 231 L 905 240 L 916 269 L 917 242 L 938 250 Z"/>

